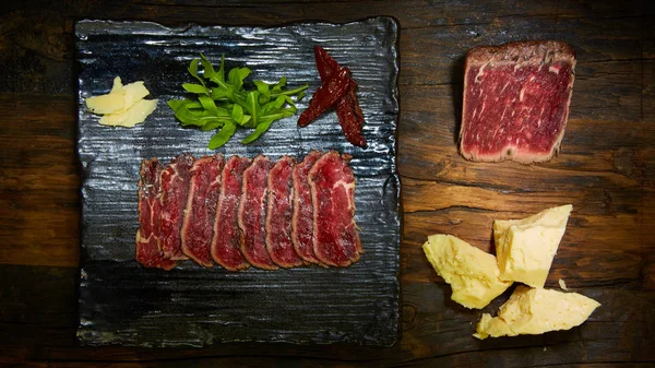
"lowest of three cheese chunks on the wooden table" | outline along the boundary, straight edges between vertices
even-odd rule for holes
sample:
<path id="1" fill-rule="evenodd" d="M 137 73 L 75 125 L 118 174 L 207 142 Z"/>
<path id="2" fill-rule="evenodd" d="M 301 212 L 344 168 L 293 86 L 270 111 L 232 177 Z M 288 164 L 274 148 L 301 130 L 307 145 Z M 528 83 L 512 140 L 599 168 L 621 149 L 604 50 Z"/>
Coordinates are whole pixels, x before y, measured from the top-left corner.
<path id="1" fill-rule="evenodd" d="M 582 324 L 600 304 L 576 293 L 517 286 L 498 317 L 484 313 L 474 336 L 516 336 L 569 330 Z"/>

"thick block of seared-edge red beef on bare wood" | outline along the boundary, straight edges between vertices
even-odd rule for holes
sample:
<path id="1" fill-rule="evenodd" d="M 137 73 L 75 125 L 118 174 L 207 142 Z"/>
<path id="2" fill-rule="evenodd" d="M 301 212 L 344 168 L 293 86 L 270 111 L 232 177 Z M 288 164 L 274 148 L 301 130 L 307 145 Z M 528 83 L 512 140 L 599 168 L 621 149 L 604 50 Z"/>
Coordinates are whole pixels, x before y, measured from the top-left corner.
<path id="1" fill-rule="evenodd" d="M 468 52 L 460 151 L 466 159 L 523 164 L 559 151 L 573 91 L 574 50 L 520 41 Z"/>

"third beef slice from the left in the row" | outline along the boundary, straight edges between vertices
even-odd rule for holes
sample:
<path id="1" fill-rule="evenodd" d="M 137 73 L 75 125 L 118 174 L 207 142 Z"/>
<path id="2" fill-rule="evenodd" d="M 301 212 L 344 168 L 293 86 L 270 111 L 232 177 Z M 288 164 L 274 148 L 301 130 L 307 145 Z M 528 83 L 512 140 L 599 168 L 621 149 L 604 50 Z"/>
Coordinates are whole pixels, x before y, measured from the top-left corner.
<path id="1" fill-rule="evenodd" d="M 211 268 L 212 236 L 221 193 L 222 154 L 198 159 L 189 174 L 189 198 L 182 223 L 182 252 L 198 264 Z"/>

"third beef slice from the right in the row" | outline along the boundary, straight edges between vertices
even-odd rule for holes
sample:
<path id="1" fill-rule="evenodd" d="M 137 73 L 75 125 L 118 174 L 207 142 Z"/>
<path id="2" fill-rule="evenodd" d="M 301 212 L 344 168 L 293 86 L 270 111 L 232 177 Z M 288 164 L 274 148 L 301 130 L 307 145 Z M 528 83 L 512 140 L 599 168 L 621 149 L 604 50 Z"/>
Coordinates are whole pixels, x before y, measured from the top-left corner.
<path id="1" fill-rule="evenodd" d="M 295 163 L 293 157 L 283 156 L 273 166 L 267 178 L 266 251 L 273 263 L 285 269 L 303 263 L 291 242 Z"/>

